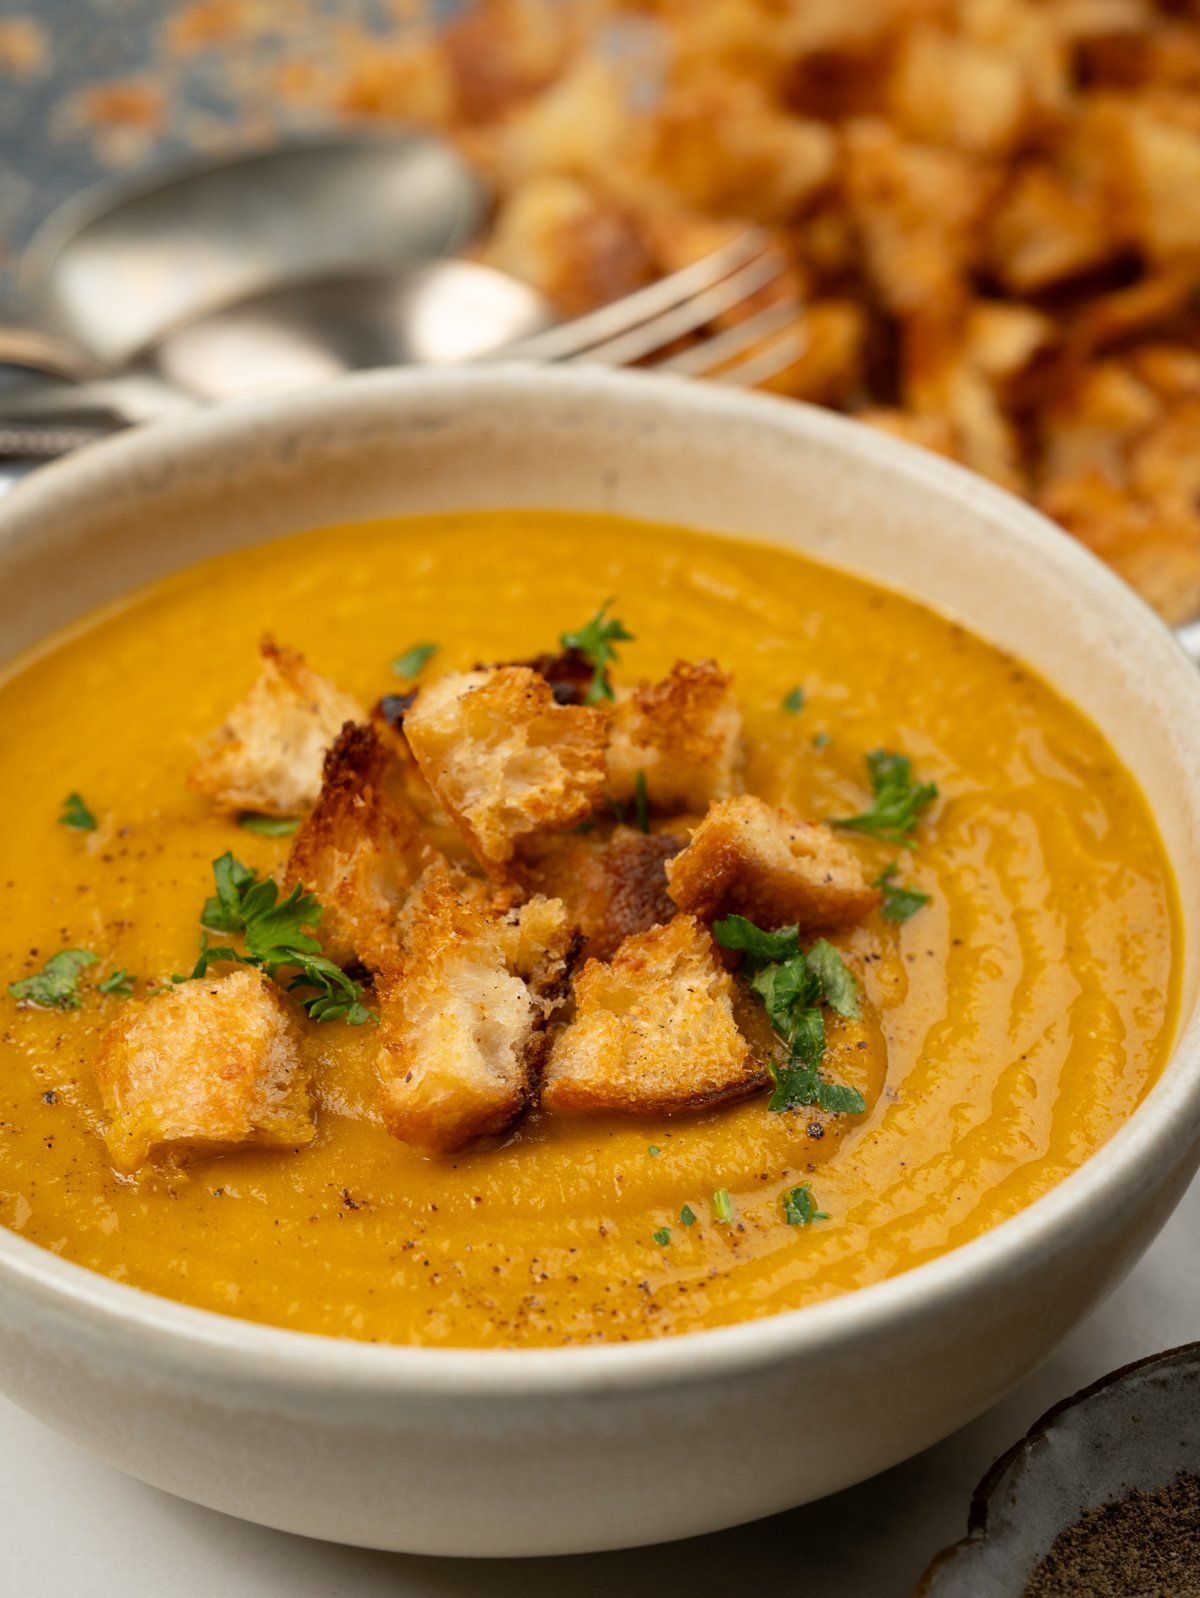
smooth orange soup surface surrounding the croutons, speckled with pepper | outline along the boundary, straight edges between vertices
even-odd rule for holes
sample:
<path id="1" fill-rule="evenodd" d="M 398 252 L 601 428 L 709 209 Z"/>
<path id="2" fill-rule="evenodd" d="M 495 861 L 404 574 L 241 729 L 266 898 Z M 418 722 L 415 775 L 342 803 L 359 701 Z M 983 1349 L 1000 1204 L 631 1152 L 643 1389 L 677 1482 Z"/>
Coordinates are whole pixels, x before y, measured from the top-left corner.
<path id="1" fill-rule="evenodd" d="M 128 1000 L 99 983 L 125 968 L 141 996 L 190 968 L 216 857 L 260 873 L 286 858 L 286 839 L 216 817 L 185 783 L 259 636 L 371 703 L 417 639 L 439 644 L 430 676 L 523 658 L 607 596 L 636 634 L 617 682 L 677 658 L 735 674 L 751 793 L 818 820 L 861 812 L 880 746 L 936 781 L 912 850 L 842 834 L 869 877 L 898 860 L 930 895 L 904 924 L 874 912 L 839 940 L 885 1043 L 885 1069 L 855 1082 L 868 1112 L 820 1139 L 765 1093 L 674 1119 L 534 1112 L 500 1147 L 430 1159 L 377 1115 L 375 1028 L 304 1023 L 312 1146 L 118 1176 L 89 1061 Z M 74 628 L 0 682 L 0 980 L 64 948 L 99 956 L 77 1010 L 0 988 L 0 1221 L 205 1309 L 479 1347 L 796 1309 L 1026 1208 L 1122 1125 L 1170 1050 L 1173 879 L 1104 738 L 960 626 L 778 548 L 550 511 L 331 527 Z M 59 823 L 72 791 L 96 831 Z M 789 1226 L 802 1183 L 828 1219 Z"/>

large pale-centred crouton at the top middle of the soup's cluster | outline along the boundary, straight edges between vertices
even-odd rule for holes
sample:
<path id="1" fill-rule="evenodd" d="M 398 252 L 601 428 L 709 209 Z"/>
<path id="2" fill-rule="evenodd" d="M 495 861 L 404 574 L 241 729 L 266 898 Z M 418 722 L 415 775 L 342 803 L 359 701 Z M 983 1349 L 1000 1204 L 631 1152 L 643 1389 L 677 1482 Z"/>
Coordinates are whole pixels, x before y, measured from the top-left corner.
<path id="1" fill-rule="evenodd" d="M 502 877 L 519 839 L 582 821 L 604 794 L 602 711 L 556 705 L 527 666 L 457 671 L 404 716 L 425 780 L 479 865 Z"/>

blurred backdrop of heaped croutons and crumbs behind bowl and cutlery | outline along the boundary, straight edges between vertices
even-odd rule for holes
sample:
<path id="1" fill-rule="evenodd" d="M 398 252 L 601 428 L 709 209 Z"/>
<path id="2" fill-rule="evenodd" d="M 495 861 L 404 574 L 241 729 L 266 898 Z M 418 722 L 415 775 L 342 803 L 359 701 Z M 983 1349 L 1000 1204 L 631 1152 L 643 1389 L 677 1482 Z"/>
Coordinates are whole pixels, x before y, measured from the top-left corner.
<path id="1" fill-rule="evenodd" d="M 404 123 L 561 318 L 764 229 L 770 288 L 706 334 L 796 305 L 770 388 L 1200 614 L 1200 0 L 5 0 L 0 312 L 101 177 Z"/>

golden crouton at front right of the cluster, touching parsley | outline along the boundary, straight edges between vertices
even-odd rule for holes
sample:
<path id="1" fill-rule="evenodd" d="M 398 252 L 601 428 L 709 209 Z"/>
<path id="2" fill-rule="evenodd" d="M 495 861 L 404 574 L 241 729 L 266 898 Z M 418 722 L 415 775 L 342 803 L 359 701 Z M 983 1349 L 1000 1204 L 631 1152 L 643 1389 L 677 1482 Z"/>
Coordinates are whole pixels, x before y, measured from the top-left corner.
<path id="1" fill-rule="evenodd" d="M 767 1080 L 733 1020 L 733 984 L 692 916 L 626 938 L 575 978 L 575 1020 L 554 1039 L 550 1111 L 660 1115 L 706 1109 Z"/>

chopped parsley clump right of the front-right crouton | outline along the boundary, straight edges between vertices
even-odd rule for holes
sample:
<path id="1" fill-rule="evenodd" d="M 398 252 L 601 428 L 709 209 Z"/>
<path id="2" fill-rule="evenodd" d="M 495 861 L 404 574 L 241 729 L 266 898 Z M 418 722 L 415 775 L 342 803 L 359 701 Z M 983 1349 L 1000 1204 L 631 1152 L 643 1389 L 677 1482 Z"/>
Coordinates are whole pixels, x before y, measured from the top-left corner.
<path id="1" fill-rule="evenodd" d="M 820 1074 L 825 1058 L 825 1015 L 856 1021 L 858 986 L 837 949 L 820 938 L 805 954 L 796 927 L 764 932 L 745 916 L 729 916 L 713 925 L 722 949 L 745 952 L 743 975 L 762 999 L 770 1024 L 788 1048 L 788 1064 L 769 1064 L 775 1091 L 769 1111 L 818 1104 L 829 1114 L 861 1115 L 866 1099 L 858 1088 L 826 1082 Z"/>

